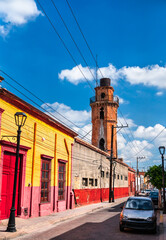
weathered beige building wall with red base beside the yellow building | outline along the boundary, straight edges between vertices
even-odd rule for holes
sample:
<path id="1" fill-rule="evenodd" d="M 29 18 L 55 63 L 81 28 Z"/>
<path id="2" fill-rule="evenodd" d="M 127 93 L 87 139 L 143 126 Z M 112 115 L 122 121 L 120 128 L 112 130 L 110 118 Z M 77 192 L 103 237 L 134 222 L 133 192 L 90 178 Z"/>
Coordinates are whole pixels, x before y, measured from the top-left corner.
<path id="1" fill-rule="evenodd" d="M 72 189 L 74 191 L 75 204 L 84 205 L 109 199 L 110 161 L 109 154 L 79 138 L 75 138 L 73 146 L 73 172 Z M 129 194 L 129 172 L 135 171 L 122 159 L 116 159 L 112 169 L 112 188 L 114 197 L 127 197 Z"/>

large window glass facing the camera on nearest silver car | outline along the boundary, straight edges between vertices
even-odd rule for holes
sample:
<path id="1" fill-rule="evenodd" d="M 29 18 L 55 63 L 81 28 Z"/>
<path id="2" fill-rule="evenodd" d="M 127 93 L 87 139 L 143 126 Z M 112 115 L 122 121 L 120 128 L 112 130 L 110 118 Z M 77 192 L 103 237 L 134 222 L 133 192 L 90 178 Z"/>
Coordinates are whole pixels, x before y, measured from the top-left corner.
<path id="1" fill-rule="evenodd" d="M 125 208 L 134 210 L 153 210 L 152 202 L 145 199 L 129 199 L 127 200 Z"/>

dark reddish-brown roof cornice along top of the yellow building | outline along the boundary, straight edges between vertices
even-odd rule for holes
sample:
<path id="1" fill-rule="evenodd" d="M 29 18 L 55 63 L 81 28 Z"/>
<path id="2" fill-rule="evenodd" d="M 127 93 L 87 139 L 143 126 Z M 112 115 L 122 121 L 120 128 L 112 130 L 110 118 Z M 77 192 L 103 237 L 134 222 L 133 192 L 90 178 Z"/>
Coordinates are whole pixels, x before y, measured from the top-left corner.
<path id="1" fill-rule="evenodd" d="M 76 137 L 78 134 L 73 130 L 69 129 L 68 127 L 64 126 L 60 122 L 56 121 L 54 118 L 50 117 L 49 115 L 45 114 L 44 112 L 40 111 L 36 107 L 32 106 L 31 104 L 25 102 L 21 98 L 17 97 L 13 93 L 9 92 L 4 88 L 0 88 L 0 98 L 17 108 L 25 111 L 26 113 L 32 115 L 33 117 L 47 123 L 48 125 L 62 131 L 65 134 L 68 134 L 71 137 Z"/>

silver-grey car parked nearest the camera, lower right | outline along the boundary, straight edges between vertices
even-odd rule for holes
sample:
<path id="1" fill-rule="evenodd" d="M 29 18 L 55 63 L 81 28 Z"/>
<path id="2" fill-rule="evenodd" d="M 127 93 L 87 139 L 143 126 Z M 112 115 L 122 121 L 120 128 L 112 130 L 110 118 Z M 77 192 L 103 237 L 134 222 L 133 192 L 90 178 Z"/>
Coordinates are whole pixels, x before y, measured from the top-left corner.
<path id="1" fill-rule="evenodd" d="M 120 214 L 120 231 L 124 228 L 157 231 L 154 204 L 149 197 L 129 197 Z"/>

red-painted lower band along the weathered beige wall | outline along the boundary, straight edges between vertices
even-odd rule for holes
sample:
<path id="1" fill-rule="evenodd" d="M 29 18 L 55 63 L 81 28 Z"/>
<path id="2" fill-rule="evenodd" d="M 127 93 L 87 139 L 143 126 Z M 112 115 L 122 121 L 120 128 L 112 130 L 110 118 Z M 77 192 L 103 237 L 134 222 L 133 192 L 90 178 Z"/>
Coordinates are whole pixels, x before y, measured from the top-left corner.
<path id="1" fill-rule="evenodd" d="M 125 188 L 115 188 L 114 198 L 121 198 L 129 196 L 128 187 Z M 109 199 L 109 188 L 102 189 L 75 189 L 75 204 L 86 205 L 97 203 L 101 201 L 108 201 Z"/>

